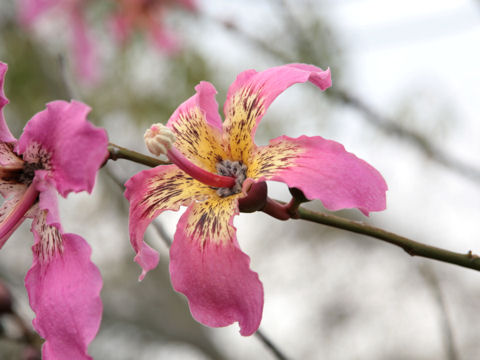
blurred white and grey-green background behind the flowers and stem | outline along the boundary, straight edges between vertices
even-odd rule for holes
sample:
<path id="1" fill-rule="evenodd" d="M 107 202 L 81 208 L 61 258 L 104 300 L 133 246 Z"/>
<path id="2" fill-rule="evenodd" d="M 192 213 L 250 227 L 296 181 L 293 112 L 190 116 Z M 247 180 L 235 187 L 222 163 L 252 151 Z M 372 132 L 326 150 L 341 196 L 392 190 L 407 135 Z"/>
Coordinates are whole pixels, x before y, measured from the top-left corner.
<path id="1" fill-rule="evenodd" d="M 152 1 L 154 2 L 154 1 Z M 332 69 L 333 87 L 288 89 L 272 104 L 256 143 L 282 134 L 321 135 L 377 168 L 387 210 L 366 221 L 420 242 L 480 252 L 480 2 L 474 0 L 198 0 L 196 10 L 157 0 L 179 50 L 159 49 L 139 28 L 114 41 L 115 1 L 86 1 L 97 51 L 95 81 L 78 76 L 65 9 L 31 26 L 2 0 L 0 60 L 8 63 L 5 117 L 18 136 L 55 99 L 81 99 L 111 142 L 147 153 L 143 132 L 166 122 L 212 82 L 223 107 L 241 71 L 289 63 Z M 159 5 L 159 6 L 160 6 Z M 124 160 L 99 172 L 95 190 L 61 199 L 63 227 L 83 236 L 104 279 L 95 359 L 275 359 L 236 324 L 206 328 L 172 290 L 168 247 L 179 215 L 162 214 L 147 241 L 161 263 L 143 282 L 128 239 L 128 204 L 117 181 L 145 167 Z M 288 199 L 284 185 L 271 196 Z M 325 211 L 314 201 L 309 208 Z M 480 277 L 408 256 L 378 240 L 263 213 L 235 219 L 242 249 L 265 289 L 260 329 L 291 359 L 478 359 Z M 24 224 L 0 252 L 0 279 L 30 326 L 23 279 L 33 237 Z M 0 358 L 24 356 L 22 329 L 0 318 Z M 21 355 L 23 354 L 23 355 Z"/>

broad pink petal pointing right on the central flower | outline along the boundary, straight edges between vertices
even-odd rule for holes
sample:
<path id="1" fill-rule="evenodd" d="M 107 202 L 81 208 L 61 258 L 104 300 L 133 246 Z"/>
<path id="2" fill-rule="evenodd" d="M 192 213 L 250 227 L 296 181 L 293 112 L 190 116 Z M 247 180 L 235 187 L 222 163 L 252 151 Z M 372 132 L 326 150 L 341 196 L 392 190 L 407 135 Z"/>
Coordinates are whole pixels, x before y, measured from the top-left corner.
<path id="1" fill-rule="evenodd" d="M 258 147 L 249 161 L 248 176 L 275 180 L 319 199 L 332 211 L 358 208 L 365 215 L 386 207 L 387 184 L 365 161 L 343 145 L 320 136 L 281 136 Z"/>

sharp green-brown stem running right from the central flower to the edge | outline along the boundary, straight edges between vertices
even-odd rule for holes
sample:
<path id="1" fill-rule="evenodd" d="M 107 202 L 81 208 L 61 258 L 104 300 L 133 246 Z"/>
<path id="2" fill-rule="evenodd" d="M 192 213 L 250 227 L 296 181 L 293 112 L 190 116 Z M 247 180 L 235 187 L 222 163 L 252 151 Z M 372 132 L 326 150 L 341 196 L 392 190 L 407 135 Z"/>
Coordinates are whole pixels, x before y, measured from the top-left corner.
<path id="1" fill-rule="evenodd" d="M 362 222 L 347 220 L 335 215 L 321 214 L 303 207 L 298 208 L 299 218 L 338 229 L 367 235 L 401 247 L 411 256 L 447 262 L 480 271 L 480 257 L 469 251 L 467 254 L 456 253 L 413 241 L 406 237 L 367 225 Z"/>

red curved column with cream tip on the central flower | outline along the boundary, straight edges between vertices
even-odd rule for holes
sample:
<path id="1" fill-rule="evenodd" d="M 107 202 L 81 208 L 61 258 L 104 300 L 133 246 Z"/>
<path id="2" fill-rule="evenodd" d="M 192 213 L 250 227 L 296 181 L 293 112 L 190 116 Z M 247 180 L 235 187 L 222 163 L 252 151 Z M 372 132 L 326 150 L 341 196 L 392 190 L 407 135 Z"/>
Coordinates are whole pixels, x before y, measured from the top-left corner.
<path id="1" fill-rule="evenodd" d="M 157 156 L 166 155 L 180 169 L 198 181 L 216 188 L 230 188 L 235 185 L 231 176 L 222 176 L 208 172 L 188 160 L 173 143 L 175 134 L 162 124 L 154 124 L 145 132 L 145 144 L 148 150 Z"/>

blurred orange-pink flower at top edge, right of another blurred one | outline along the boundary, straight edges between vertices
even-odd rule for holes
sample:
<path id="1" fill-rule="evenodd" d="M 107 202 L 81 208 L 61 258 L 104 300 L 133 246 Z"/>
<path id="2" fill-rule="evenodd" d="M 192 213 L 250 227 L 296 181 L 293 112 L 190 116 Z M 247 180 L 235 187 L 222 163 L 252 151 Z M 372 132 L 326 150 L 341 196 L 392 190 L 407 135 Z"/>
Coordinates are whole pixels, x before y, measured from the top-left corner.
<path id="1" fill-rule="evenodd" d="M 146 32 L 152 43 L 169 53 L 179 50 L 177 37 L 164 27 L 163 17 L 169 7 L 182 5 L 195 10 L 194 0 L 117 0 L 117 12 L 112 18 L 117 40 L 125 44 L 135 29 Z"/>

